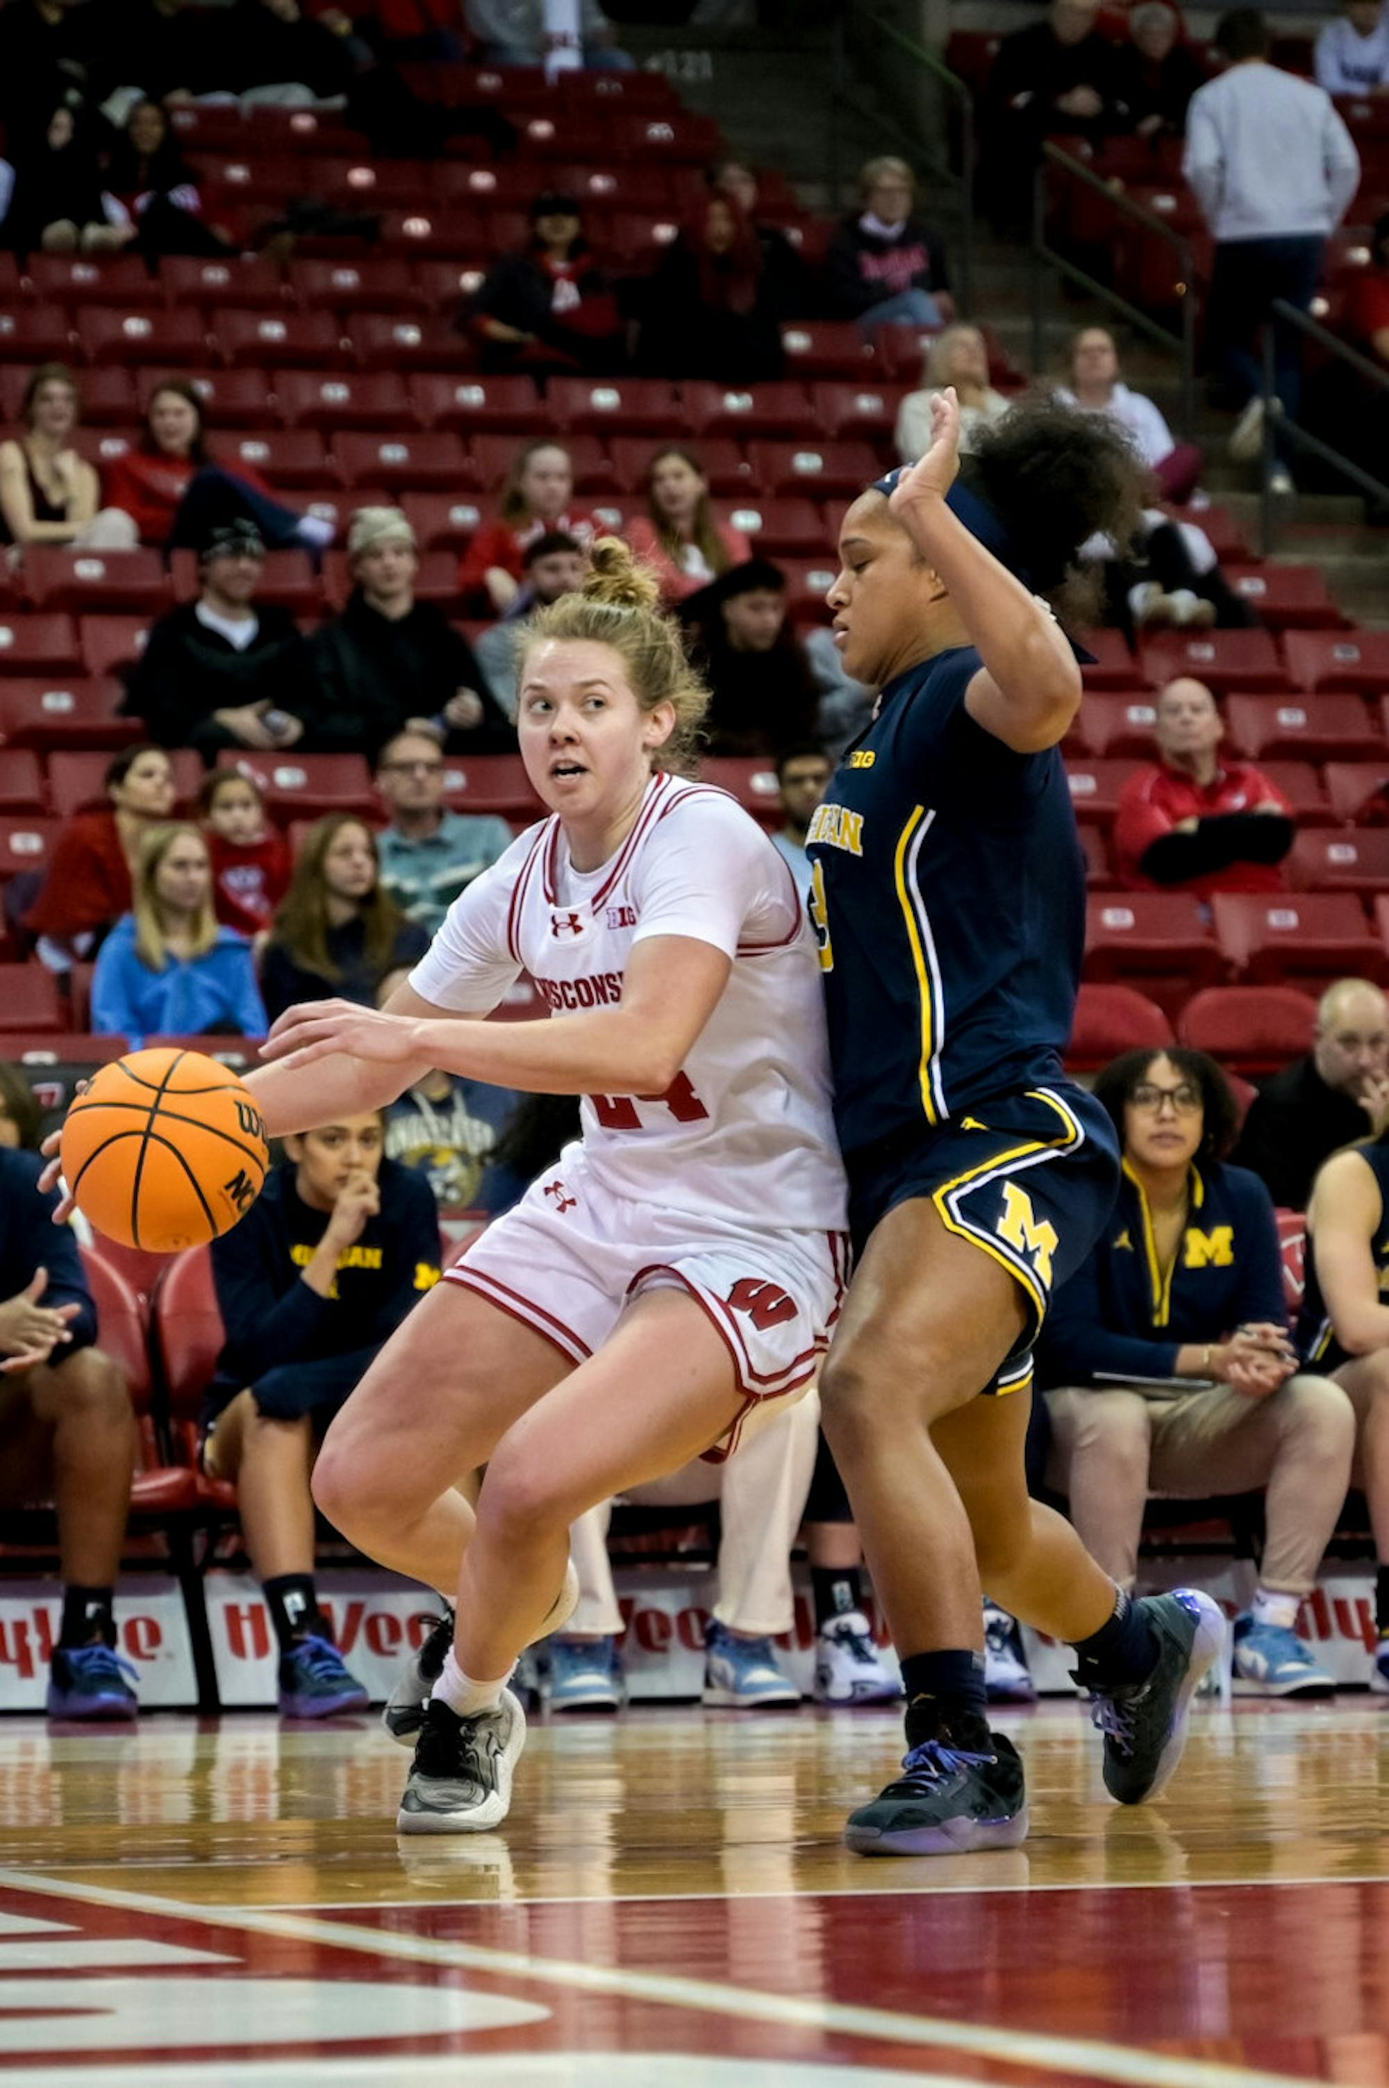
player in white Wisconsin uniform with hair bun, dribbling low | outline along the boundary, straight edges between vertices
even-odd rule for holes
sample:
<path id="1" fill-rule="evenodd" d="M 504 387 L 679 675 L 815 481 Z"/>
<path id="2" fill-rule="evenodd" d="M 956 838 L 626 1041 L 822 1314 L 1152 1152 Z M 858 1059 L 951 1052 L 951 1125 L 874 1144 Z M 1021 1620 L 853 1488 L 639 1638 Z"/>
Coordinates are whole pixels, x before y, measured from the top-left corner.
<path id="1" fill-rule="evenodd" d="M 583 1096 L 583 1138 L 416 1307 L 313 1474 L 355 1545 L 457 1589 L 432 1695 L 416 1666 L 428 1702 L 393 1698 L 397 1737 L 418 1729 L 405 1833 L 505 1817 L 524 1739 L 505 1685 L 572 1610 L 570 1522 L 800 1397 L 846 1274 L 794 879 L 733 798 L 670 773 L 706 691 L 627 547 L 595 545 L 593 568 L 522 641 L 520 748 L 551 816 L 455 900 L 382 1013 L 290 1009 L 251 1075 L 272 1134 L 432 1067 Z M 522 971 L 558 1019 L 478 1021 Z M 453 1482 L 480 1464 L 474 1514 Z"/>

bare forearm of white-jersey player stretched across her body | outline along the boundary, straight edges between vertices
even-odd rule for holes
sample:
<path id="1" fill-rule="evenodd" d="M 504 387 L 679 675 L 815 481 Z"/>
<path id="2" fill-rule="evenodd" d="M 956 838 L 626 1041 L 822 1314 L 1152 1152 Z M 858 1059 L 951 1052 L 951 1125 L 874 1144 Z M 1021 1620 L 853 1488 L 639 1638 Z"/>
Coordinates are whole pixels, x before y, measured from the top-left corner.
<path id="1" fill-rule="evenodd" d="M 714 1013 L 729 971 L 731 958 L 714 944 L 650 935 L 627 960 L 620 1006 L 564 1021 L 482 1023 L 439 1009 L 397 1009 L 399 996 L 380 1013 L 347 1000 L 307 1002 L 286 1009 L 269 1031 L 261 1054 L 274 1065 L 265 1075 L 280 1073 L 297 1084 L 295 1094 L 309 1094 L 322 1079 L 322 1061 L 345 1052 L 345 1063 L 370 1065 L 380 1075 L 378 1096 L 409 1086 L 416 1075 L 403 1067 L 439 1067 L 528 1094 L 664 1094 Z M 259 1082 L 255 1075 L 257 1094 Z M 313 1121 L 322 1123 L 322 1113 Z"/>

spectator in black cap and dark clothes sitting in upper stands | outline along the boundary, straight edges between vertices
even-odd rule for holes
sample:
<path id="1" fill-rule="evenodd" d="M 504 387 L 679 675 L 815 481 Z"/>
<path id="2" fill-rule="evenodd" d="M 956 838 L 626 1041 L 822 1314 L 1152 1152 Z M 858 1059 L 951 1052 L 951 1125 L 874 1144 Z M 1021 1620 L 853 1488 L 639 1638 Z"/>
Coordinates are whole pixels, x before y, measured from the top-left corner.
<path id="1" fill-rule="evenodd" d="M 531 242 L 493 261 L 464 317 L 485 370 L 612 376 L 627 365 L 616 292 L 566 190 L 531 198 Z"/>

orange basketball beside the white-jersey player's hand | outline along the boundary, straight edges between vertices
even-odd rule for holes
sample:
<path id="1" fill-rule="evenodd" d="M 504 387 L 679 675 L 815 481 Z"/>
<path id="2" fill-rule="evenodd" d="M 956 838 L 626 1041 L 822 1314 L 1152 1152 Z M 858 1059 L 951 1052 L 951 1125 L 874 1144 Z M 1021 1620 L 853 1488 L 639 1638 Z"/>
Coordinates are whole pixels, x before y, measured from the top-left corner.
<path id="1" fill-rule="evenodd" d="M 244 1217 L 265 1182 L 265 1119 L 249 1088 L 198 1050 L 104 1065 L 63 1125 L 77 1209 L 123 1247 L 173 1255 Z"/>

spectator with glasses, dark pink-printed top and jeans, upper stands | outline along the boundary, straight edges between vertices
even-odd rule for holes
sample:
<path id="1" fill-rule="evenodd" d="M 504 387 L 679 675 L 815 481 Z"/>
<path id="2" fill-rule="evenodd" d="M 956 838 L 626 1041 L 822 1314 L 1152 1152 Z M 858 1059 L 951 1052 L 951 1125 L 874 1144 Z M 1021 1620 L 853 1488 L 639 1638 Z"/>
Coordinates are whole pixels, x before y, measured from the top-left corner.
<path id="1" fill-rule="evenodd" d="M 858 173 L 858 211 L 840 223 L 825 255 L 825 288 L 838 317 L 865 338 L 879 326 L 944 326 L 955 317 L 940 234 L 915 215 L 917 177 L 904 159 L 871 159 Z"/>

